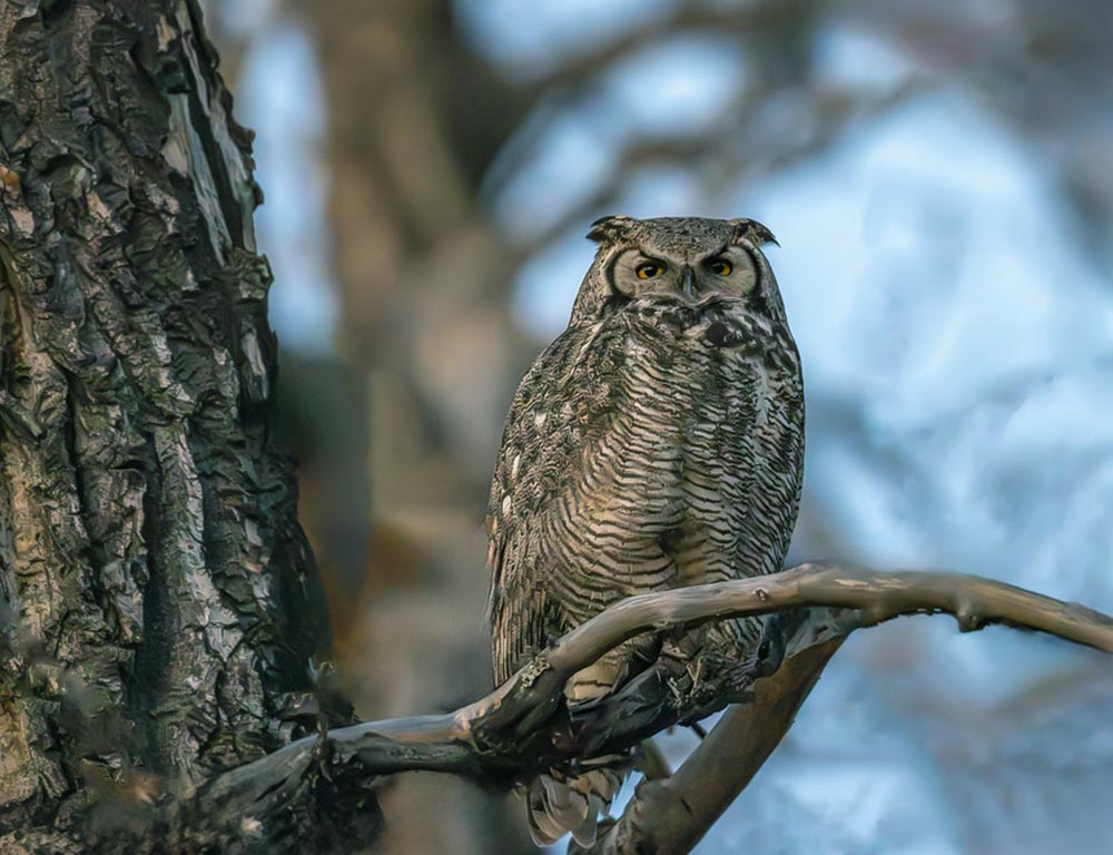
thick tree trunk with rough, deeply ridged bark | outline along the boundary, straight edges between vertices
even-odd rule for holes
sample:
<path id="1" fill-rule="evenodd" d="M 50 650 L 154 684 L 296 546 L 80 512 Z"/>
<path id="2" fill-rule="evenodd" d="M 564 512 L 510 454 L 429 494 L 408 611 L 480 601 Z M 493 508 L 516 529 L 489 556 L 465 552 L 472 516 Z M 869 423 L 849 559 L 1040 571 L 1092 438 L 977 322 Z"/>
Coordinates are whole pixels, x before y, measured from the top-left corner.
<path id="1" fill-rule="evenodd" d="M 4 852 L 284 744 L 327 640 L 215 69 L 193 0 L 0 6 Z"/>

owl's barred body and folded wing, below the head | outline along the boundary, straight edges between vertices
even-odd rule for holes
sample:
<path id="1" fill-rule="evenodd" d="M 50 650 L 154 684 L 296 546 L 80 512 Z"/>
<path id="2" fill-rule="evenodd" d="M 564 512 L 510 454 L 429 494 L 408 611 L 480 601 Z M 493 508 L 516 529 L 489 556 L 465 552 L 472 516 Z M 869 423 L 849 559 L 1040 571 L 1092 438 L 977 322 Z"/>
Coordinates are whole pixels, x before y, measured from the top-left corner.
<path id="1" fill-rule="evenodd" d="M 780 569 L 802 453 L 796 345 L 741 299 L 643 298 L 569 327 L 495 466 L 496 679 L 623 597 Z"/>

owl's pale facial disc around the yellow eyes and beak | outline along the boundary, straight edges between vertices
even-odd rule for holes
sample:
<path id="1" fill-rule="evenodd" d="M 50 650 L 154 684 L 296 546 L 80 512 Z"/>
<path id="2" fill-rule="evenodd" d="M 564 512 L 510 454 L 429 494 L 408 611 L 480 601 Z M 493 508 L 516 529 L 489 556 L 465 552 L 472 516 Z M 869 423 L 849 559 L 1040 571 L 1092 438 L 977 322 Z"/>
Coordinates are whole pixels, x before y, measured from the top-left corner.
<path id="1" fill-rule="evenodd" d="M 682 295 L 699 299 L 709 294 L 746 296 L 757 284 L 757 266 L 740 246 L 726 246 L 701 256 L 670 258 L 632 247 L 619 254 L 611 282 L 622 296 Z"/>

